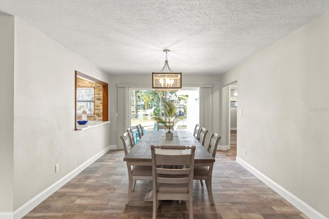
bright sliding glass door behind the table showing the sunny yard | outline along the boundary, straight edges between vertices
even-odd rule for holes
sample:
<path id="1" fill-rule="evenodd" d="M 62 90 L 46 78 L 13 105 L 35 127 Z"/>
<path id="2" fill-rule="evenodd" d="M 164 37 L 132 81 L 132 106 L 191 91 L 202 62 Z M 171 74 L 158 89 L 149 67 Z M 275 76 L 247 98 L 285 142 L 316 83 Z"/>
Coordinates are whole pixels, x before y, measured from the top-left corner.
<path id="1" fill-rule="evenodd" d="M 144 129 L 156 130 L 152 121 L 153 115 L 161 115 L 163 103 L 174 101 L 176 116 L 174 130 L 189 130 L 193 133 L 194 126 L 199 122 L 199 89 L 185 88 L 180 91 L 153 91 L 148 89 L 129 89 L 129 125 L 134 129 L 141 124 Z"/>

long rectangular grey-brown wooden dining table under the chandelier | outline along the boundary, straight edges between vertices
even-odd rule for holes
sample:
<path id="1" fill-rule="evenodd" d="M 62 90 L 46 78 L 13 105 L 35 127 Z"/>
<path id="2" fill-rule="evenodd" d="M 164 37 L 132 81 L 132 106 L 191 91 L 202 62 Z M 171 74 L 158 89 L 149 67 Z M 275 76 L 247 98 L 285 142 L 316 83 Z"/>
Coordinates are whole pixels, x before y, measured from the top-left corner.
<path id="1" fill-rule="evenodd" d="M 152 166 L 151 145 L 181 145 L 195 146 L 194 166 L 213 167 L 215 158 L 208 150 L 196 139 L 190 131 L 173 131 L 173 140 L 166 140 L 166 131 L 147 131 L 139 139 L 136 145 L 124 156 L 123 161 L 131 166 Z M 207 182 L 210 202 L 214 205 L 211 172 Z M 152 191 L 145 196 L 145 201 L 152 202 Z"/>

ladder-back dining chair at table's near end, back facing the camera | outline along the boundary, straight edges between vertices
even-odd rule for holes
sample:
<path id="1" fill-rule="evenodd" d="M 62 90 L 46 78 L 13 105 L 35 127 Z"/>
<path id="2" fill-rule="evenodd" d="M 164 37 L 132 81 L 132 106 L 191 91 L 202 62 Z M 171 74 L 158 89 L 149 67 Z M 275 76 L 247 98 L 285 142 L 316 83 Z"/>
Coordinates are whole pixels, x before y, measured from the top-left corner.
<path id="1" fill-rule="evenodd" d="M 160 200 L 186 201 L 189 218 L 193 219 L 194 153 L 195 146 L 151 145 L 153 219 L 157 216 Z M 183 168 L 161 168 L 168 165 L 182 166 Z"/>

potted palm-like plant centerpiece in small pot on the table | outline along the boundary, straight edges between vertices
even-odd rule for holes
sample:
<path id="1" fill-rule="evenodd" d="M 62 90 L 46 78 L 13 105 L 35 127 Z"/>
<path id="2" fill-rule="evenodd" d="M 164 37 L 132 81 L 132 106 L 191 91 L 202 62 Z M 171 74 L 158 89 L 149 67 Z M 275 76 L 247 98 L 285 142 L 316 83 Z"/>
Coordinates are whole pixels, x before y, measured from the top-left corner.
<path id="1" fill-rule="evenodd" d="M 152 117 L 152 120 L 157 124 L 163 124 L 167 128 L 166 140 L 173 140 L 173 128 L 176 119 L 176 105 L 174 102 L 165 102 L 163 106 L 163 116 L 156 115 Z"/>

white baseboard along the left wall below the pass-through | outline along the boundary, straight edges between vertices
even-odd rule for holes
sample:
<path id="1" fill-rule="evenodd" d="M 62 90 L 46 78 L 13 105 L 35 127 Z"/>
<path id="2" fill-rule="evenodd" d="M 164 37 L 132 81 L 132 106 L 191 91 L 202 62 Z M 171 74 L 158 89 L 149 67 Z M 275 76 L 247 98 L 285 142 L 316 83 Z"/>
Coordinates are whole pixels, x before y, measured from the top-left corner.
<path id="1" fill-rule="evenodd" d="M 70 173 L 65 175 L 63 178 L 61 178 L 56 183 L 49 186 L 44 191 L 40 192 L 38 195 L 33 197 L 30 201 L 22 205 L 20 208 L 16 209 L 14 212 L 0 212 L 0 219 L 19 219 L 22 218 L 25 214 L 30 212 L 33 208 L 38 206 L 40 203 L 42 203 L 47 197 L 49 197 L 52 193 L 56 192 L 58 189 L 60 189 L 62 186 L 64 186 L 67 182 L 72 180 L 76 175 L 78 175 L 82 170 L 84 170 L 86 167 L 88 167 L 90 164 L 94 163 L 99 157 L 104 155 L 108 150 L 117 149 L 118 146 L 110 145 L 101 150 L 99 153 L 97 153 L 95 156 L 90 158 L 88 161 L 77 167 L 76 169 L 72 170 Z"/>

